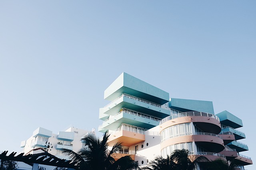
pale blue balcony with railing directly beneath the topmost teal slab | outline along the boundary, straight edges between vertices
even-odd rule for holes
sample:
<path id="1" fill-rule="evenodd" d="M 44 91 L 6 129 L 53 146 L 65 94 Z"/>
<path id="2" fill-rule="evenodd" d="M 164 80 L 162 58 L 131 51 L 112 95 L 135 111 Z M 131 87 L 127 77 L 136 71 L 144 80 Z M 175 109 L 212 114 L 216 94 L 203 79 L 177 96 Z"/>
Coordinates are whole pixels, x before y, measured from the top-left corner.
<path id="1" fill-rule="evenodd" d="M 107 106 L 100 108 L 100 115 L 115 115 L 123 107 L 131 110 L 136 110 L 138 112 L 145 112 L 148 115 L 152 115 L 159 118 L 164 118 L 170 115 L 169 110 L 161 108 L 161 106 L 158 104 L 140 98 L 136 98 L 134 96 L 130 96 L 127 94 L 122 94 Z"/>

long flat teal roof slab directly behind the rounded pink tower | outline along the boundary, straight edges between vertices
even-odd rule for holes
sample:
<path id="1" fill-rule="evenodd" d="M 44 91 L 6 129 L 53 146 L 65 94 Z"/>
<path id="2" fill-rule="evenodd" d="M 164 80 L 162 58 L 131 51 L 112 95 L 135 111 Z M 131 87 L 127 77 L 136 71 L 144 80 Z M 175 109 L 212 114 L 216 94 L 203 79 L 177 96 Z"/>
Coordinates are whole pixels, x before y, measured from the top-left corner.
<path id="1" fill-rule="evenodd" d="M 202 111 L 214 114 L 211 101 L 171 98 L 169 107 L 179 111 Z"/>

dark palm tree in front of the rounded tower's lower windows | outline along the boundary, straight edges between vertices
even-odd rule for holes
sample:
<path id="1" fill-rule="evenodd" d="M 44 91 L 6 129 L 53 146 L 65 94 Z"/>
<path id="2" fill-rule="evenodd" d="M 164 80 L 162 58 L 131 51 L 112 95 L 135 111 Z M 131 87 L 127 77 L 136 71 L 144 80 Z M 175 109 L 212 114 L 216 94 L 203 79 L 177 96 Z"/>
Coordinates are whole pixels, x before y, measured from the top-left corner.
<path id="1" fill-rule="evenodd" d="M 177 170 L 194 170 L 200 163 L 208 162 L 208 159 L 204 156 L 199 156 L 192 161 L 190 158 L 190 151 L 187 149 L 174 150 L 170 158 L 176 163 Z"/>

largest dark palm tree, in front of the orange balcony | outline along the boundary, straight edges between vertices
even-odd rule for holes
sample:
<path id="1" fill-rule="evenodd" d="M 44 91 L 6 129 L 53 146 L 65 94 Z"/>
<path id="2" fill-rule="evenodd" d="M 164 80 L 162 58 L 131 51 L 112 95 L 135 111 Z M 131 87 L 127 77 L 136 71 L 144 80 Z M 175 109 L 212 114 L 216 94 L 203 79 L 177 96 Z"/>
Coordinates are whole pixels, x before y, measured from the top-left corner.
<path id="1" fill-rule="evenodd" d="M 78 153 L 72 150 L 64 150 L 70 159 L 77 162 L 79 170 L 132 170 L 137 168 L 137 164 L 130 156 L 121 157 L 114 160 L 114 153 L 118 152 L 122 143 L 116 143 L 111 150 L 108 150 L 108 132 L 104 134 L 102 140 L 92 133 L 88 133 L 82 137 L 85 142 Z"/>

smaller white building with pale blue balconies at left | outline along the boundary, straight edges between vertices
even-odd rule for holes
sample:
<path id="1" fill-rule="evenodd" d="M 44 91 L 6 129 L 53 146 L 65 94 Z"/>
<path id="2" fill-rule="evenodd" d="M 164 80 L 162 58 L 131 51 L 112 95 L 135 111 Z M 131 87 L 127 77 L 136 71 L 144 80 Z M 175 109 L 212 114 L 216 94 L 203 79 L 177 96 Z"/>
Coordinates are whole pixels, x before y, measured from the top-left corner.
<path id="1" fill-rule="evenodd" d="M 50 154 L 68 160 L 69 156 L 63 153 L 62 149 L 78 152 L 84 147 L 81 137 L 86 133 L 95 133 L 95 128 L 89 131 L 70 125 L 63 131 L 59 131 L 58 134 L 54 134 L 48 129 L 38 127 L 30 138 L 21 142 L 20 147 L 23 148 L 25 154 L 34 154 L 38 153 L 38 149 L 46 151 L 49 145 L 48 152 Z"/>

